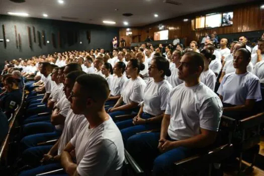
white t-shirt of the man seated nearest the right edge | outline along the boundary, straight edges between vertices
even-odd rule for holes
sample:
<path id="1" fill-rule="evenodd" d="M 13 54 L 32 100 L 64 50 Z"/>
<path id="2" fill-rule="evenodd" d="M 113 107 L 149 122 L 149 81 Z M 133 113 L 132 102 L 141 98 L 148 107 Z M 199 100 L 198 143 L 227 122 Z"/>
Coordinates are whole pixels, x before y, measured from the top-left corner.
<path id="1" fill-rule="evenodd" d="M 259 80 L 250 72 L 226 74 L 217 93 L 223 97 L 223 103 L 231 105 L 245 105 L 247 99 L 261 100 Z"/>

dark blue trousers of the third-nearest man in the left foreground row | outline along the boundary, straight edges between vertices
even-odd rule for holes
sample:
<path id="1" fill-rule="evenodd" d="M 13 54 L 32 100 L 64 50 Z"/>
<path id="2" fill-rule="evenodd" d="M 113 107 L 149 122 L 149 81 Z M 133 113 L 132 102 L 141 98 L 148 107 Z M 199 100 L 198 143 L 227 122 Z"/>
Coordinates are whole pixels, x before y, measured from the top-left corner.
<path id="1" fill-rule="evenodd" d="M 61 133 L 62 131 L 55 130 L 54 132 L 51 133 L 40 133 L 40 134 L 33 134 L 26 136 L 21 140 L 22 150 L 23 149 L 25 150 L 30 147 L 36 147 L 37 144 L 41 142 L 58 139 Z"/>

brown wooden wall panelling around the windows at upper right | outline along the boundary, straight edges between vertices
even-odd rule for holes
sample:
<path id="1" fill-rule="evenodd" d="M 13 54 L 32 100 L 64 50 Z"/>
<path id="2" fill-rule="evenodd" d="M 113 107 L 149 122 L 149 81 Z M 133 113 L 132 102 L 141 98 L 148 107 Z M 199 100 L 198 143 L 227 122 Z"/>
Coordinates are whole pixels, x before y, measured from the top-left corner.
<path id="1" fill-rule="evenodd" d="M 205 15 L 209 12 L 225 12 L 226 9 L 228 9 L 228 11 L 233 10 L 234 12 L 232 26 L 196 31 L 192 30 L 192 19 L 194 19 L 196 16 Z M 183 22 L 184 18 L 188 18 L 189 21 Z M 219 9 L 219 11 L 217 9 L 213 11 L 210 10 L 208 12 L 191 14 L 185 17 L 179 17 L 175 19 L 157 22 L 155 24 L 150 24 L 138 28 L 138 35 L 140 35 L 139 42 L 144 41 L 149 35 L 153 38 L 154 32 L 160 31 L 158 29 L 159 24 L 164 25 L 164 29 L 169 29 L 169 39 L 173 39 L 174 35 L 178 35 L 179 38 L 187 37 L 187 43 L 189 44 L 192 40 L 199 40 L 200 37 L 204 36 L 205 32 L 211 34 L 213 31 L 216 31 L 217 34 L 230 34 L 238 32 L 264 30 L 264 10 L 260 9 L 260 3 L 249 3 L 243 5 L 236 5 L 228 8 L 221 8 Z"/>

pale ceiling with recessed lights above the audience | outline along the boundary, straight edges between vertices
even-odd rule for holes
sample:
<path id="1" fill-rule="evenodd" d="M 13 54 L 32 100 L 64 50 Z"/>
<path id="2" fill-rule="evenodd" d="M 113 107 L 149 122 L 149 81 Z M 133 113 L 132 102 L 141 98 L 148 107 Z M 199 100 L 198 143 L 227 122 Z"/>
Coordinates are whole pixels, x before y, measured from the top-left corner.
<path id="1" fill-rule="evenodd" d="M 61 19 L 62 16 L 77 18 L 80 23 L 100 24 L 103 20 L 117 22 L 113 26 L 124 26 L 123 21 L 129 22 L 129 26 L 143 26 L 157 21 L 178 17 L 182 15 L 200 12 L 218 7 L 253 2 L 255 0 L 174 0 L 182 3 L 181 6 L 165 4 L 163 0 L 64 0 L 64 4 L 58 4 L 58 0 L 26 0 L 25 3 L 13 3 L 8 0 L 0 0 L 0 14 L 7 12 L 25 12 L 29 17 L 44 18 L 42 14 L 48 14 L 48 19 Z M 118 11 L 115 11 L 118 9 Z M 123 13 L 132 13 L 132 17 L 124 17 Z M 158 18 L 154 17 L 158 14 Z"/>

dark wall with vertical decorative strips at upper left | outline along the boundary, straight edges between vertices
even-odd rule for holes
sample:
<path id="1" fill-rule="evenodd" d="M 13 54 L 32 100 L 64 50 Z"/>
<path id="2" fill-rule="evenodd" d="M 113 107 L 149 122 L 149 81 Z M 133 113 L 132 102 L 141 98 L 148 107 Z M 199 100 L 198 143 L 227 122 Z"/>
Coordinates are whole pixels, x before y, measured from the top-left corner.
<path id="1" fill-rule="evenodd" d="M 82 24 L 58 20 L 47 20 L 37 18 L 23 18 L 0 15 L 0 39 L 3 39 L 3 28 L 5 25 L 7 48 L 4 43 L 0 43 L 0 64 L 4 60 L 12 60 L 18 58 L 30 58 L 41 54 L 49 54 L 54 52 L 64 52 L 68 50 L 89 50 L 96 48 L 111 49 L 112 40 L 119 35 L 119 28 L 100 25 Z M 16 46 L 15 25 L 17 33 L 21 35 L 21 49 Z M 28 26 L 31 28 L 32 49 L 29 47 Z M 35 27 L 36 43 L 34 42 L 33 26 Z M 91 42 L 87 40 L 86 33 L 91 31 Z M 38 44 L 37 31 L 42 35 L 45 32 L 46 45 L 43 45 L 41 37 L 41 47 Z M 60 32 L 59 32 L 60 31 Z M 54 34 L 56 48 L 53 47 L 52 33 Z M 59 37 L 61 38 L 61 47 Z M 80 44 L 79 42 L 82 42 Z"/>

